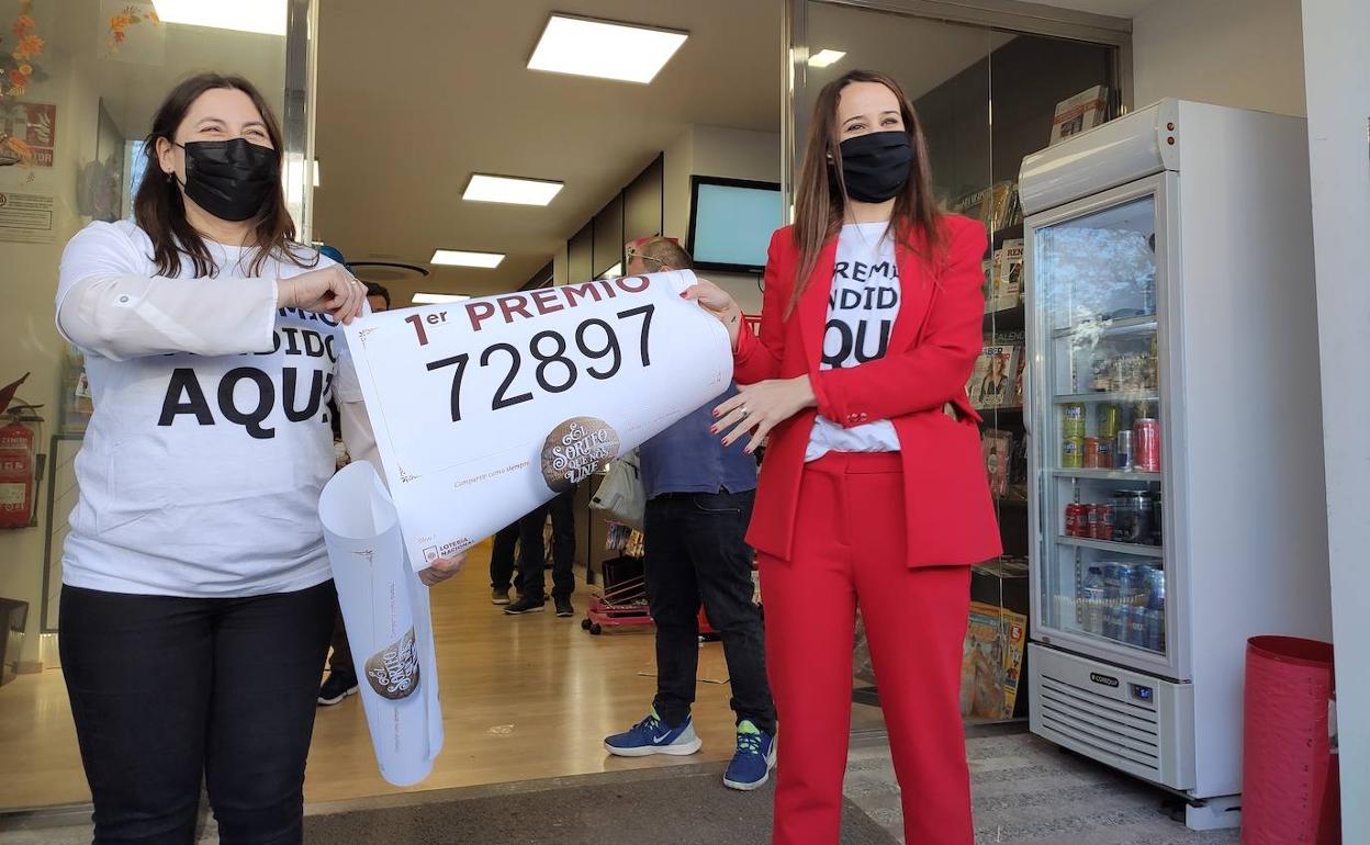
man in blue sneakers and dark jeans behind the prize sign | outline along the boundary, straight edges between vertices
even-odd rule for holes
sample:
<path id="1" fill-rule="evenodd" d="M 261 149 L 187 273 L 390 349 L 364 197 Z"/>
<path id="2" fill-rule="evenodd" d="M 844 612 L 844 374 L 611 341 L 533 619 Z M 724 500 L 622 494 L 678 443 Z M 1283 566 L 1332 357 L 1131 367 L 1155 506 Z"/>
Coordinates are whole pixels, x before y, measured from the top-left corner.
<path id="1" fill-rule="evenodd" d="M 627 244 L 627 275 L 688 270 L 689 253 L 671 238 Z M 729 388 L 729 393 L 736 389 Z M 699 608 L 723 641 L 737 715 L 737 751 L 723 775 L 733 789 L 758 789 L 775 766 L 775 705 L 766 682 L 760 609 L 752 601 L 752 516 L 756 460 L 710 433 L 719 396 L 640 446 L 647 489 L 647 600 L 656 623 L 652 712 L 604 740 L 612 755 L 692 755 L 700 740 L 690 719 L 699 671 Z"/>

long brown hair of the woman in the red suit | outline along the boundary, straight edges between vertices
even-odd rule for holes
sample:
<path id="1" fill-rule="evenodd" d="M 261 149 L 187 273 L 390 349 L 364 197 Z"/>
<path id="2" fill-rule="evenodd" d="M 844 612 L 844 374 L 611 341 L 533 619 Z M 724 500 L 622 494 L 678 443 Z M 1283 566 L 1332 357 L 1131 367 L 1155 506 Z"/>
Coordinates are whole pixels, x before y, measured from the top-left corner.
<path id="1" fill-rule="evenodd" d="M 795 292 L 785 308 L 785 316 L 795 311 L 799 299 L 808 286 L 808 277 L 818 264 L 818 253 L 841 229 L 847 208 L 847 181 L 843 178 L 841 127 L 837 122 L 837 101 L 843 89 L 852 82 L 878 82 L 893 92 L 904 118 L 904 131 L 914 151 L 910 163 L 908 185 L 895 197 L 895 214 L 891 218 L 891 233 L 901 238 L 903 245 L 917 251 L 932 251 L 940 244 L 938 220 L 941 211 L 933 196 L 933 171 L 927 162 L 927 140 L 918 112 L 892 77 L 870 70 L 854 70 L 833 79 L 818 92 L 814 104 L 814 118 L 808 123 L 808 141 L 804 148 L 804 166 L 799 174 L 795 192 L 795 247 L 799 249 L 799 275 L 795 278 Z M 832 164 L 829 164 L 832 162 Z M 834 171 L 829 182 L 829 167 Z"/>

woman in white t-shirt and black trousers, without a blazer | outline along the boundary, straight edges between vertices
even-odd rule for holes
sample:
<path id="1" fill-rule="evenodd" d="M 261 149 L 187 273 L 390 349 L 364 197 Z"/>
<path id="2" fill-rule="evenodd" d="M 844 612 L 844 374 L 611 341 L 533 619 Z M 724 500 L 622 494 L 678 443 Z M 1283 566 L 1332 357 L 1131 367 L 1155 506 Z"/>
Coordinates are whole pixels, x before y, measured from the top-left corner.
<path id="1" fill-rule="evenodd" d="M 153 119 L 136 222 L 62 256 L 58 329 L 95 414 L 60 646 L 97 845 L 189 844 L 201 779 L 225 845 L 301 841 L 330 396 L 352 455 L 374 444 L 341 331 L 366 290 L 295 242 L 281 147 L 249 82 L 193 77 Z"/>

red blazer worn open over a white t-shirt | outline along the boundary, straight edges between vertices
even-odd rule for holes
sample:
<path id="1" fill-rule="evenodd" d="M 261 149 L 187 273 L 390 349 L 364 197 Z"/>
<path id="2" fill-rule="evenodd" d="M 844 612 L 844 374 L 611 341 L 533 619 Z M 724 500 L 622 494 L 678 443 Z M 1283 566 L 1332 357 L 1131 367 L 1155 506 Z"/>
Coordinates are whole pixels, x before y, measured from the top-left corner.
<path id="1" fill-rule="evenodd" d="M 771 430 L 747 534 L 760 552 L 793 556 L 804 451 L 814 416 L 822 414 L 845 427 L 893 420 L 904 466 L 908 566 L 974 564 L 1001 553 L 980 415 L 966 397 L 984 342 L 985 229 L 948 215 L 943 233 L 936 262 L 903 242 L 896 247 L 903 301 L 885 357 L 840 370 L 819 370 L 837 238 L 823 247 L 803 299 L 785 319 L 799 248 L 789 226 L 771 236 L 760 337 L 743 327 L 734 377 L 751 385 L 808 374 L 818 408 Z M 948 403 L 959 419 L 943 411 Z"/>

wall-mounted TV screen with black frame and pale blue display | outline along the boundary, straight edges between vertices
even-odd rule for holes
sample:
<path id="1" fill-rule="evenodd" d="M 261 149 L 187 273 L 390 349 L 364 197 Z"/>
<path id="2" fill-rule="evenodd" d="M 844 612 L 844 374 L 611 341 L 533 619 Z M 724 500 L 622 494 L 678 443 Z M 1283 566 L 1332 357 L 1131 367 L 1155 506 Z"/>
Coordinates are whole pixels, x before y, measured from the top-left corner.
<path id="1" fill-rule="evenodd" d="M 781 227 L 780 184 L 690 177 L 689 249 L 703 270 L 762 273 Z"/>

